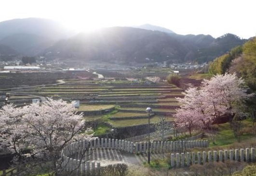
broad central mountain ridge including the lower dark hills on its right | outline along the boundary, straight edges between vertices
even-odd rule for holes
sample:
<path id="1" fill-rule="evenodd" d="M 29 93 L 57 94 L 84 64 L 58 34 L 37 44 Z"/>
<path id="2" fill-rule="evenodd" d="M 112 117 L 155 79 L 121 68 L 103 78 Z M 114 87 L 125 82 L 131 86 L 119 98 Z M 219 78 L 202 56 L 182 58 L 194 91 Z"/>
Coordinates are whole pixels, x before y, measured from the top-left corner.
<path id="1" fill-rule="evenodd" d="M 234 43 L 225 40 L 230 35 L 215 39 L 210 35 L 183 36 L 134 27 L 109 27 L 59 41 L 44 53 L 51 58 L 81 58 L 109 63 L 203 63 L 244 43 L 241 39 Z"/>

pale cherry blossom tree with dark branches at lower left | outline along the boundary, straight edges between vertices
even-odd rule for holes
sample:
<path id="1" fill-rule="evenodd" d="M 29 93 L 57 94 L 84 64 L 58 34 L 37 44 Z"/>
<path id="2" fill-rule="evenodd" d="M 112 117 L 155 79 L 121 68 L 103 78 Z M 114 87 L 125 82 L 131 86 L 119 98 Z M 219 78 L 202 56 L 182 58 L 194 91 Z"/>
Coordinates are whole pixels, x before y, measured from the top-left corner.
<path id="1" fill-rule="evenodd" d="M 81 133 L 83 115 L 77 113 L 73 104 L 62 100 L 48 99 L 22 108 L 6 105 L 0 110 L 0 126 L 1 147 L 19 156 L 19 161 L 44 163 L 49 175 L 57 175 L 61 151 L 68 144 L 92 138 Z"/>

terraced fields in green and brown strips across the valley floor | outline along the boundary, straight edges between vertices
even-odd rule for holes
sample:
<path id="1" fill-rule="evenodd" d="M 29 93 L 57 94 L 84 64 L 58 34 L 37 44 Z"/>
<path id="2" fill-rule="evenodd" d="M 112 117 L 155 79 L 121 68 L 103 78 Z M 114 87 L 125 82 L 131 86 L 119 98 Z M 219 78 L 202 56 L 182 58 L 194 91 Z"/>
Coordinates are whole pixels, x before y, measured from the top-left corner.
<path id="1" fill-rule="evenodd" d="M 31 103 L 31 99 L 40 96 L 67 101 L 80 100 L 81 106 L 78 111 L 83 112 L 108 110 L 118 105 L 119 112 L 108 115 L 108 122 L 114 127 L 120 127 L 147 124 L 148 113 L 145 111 L 147 107 L 151 107 L 152 113 L 154 113 L 154 116 L 150 118 L 150 123 L 157 122 L 161 116 L 165 116 L 172 121 L 172 115 L 175 113 L 175 108 L 177 108 L 175 97 L 183 97 L 181 93 L 183 89 L 169 85 L 166 82 L 150 83 L 145 79 L 138 79 L 139 82 L 134 82 L 125 78 L 113 82 L 111 81 L 113 78 L 111 80 L 81 80 L 75 76 L 68 77 L 66 75 L 66 77 L 64 84 L 42 84 L 37 87 L 19 90 L 24 94 L 32 94 L 38 97 L 23 95 L 14 98 L 14 96 L 11 96 L 10 101 Z M 14 93 L 16 91 L 18 90 L 11 90 Z M 90 115 L 89 119 L 97 119 L 103 115 L 101 113 L 100 115 Z"/>

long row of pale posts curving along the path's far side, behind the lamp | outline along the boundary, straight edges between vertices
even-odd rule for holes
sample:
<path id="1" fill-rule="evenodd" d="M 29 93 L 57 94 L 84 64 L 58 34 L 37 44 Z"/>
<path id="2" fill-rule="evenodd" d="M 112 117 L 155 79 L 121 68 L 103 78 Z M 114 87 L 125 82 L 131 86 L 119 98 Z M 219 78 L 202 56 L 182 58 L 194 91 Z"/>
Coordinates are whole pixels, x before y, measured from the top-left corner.
<path id="1" fill-rule="evenodd" d="M 90 147 L 91 149 L 108 148 L 119 151 L 126 151 L 129 153 L 146 153 L 149 150 L 151 152 L 171 152 L 178 151 L 179 148 L 192 149 L 195 147 L 208 147 L 208 140 L 184 140 L 184 141 L 158 141 L 150 142 L 130 142 L 127 140 L 118 140 L 111 138 L 96 138 L 92 141 L 79 141 L 70 144 L 65 148 L 63 154 L 65 156 L 72 156 L 77 152 L 84 151 Z"/>

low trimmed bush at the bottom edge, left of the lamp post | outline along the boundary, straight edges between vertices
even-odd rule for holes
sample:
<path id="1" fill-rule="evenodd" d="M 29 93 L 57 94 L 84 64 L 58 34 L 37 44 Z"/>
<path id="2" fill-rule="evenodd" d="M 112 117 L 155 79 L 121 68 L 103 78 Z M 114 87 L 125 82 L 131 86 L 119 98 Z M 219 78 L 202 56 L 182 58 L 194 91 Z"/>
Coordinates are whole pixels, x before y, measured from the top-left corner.
<path id="1" fill-rule="evenodd" d="M 127 164 L 117 163 L 107 165 L 106 167 L 101 167 L 100 174 L 101 176 L 126 176 L 127 171 Z"/>

